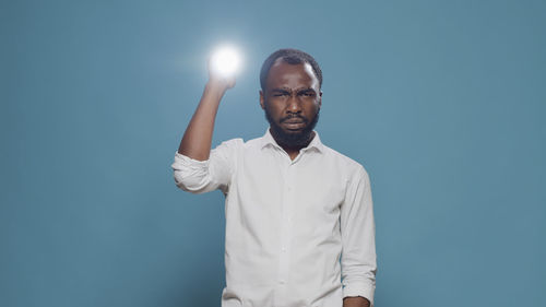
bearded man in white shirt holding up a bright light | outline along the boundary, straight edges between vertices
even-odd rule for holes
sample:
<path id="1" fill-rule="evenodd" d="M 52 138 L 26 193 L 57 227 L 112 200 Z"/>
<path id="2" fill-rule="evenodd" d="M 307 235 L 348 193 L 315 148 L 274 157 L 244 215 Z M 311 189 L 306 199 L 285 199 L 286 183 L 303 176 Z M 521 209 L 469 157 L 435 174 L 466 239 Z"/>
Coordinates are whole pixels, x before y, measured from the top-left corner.
<path id="1" fill-rule="evenodd" d="M 182 190 L 226 196 L 222 307 L 372 306 L 370 181 L 313 129 L 322 104 L 319 64 L 304 51 L 281 49 L 264 61 L 260 83 L 265 134 L 211 151 L 216 111 L 235 78 L 209 69 L 173 164 Z"/>

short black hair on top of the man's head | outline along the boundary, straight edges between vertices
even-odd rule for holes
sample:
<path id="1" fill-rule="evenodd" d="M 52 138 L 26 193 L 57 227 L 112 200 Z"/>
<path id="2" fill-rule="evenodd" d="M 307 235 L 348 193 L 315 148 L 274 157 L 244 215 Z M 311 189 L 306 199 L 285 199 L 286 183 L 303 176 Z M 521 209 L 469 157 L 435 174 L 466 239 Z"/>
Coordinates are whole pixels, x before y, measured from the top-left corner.
<path id="1" fill-rule="evenodd" d="M 278 58 L 282 58 L 283 61 L 288 64 L 309 63 L 314 72 L 314 75 L 319 80 L 319 87 L 322 87 L 322 70 L 320 70 L 319 63 L 314 60 L 314 58 L 311 57 L 311 55 L 298 49 L 284 48 L 271 54 L 265 61 L 263 61 L 262 69 L 260 71 L 260 85 L 262 86 L 262 91 L 265 90 L 265 81 L 270 69 Z"/>

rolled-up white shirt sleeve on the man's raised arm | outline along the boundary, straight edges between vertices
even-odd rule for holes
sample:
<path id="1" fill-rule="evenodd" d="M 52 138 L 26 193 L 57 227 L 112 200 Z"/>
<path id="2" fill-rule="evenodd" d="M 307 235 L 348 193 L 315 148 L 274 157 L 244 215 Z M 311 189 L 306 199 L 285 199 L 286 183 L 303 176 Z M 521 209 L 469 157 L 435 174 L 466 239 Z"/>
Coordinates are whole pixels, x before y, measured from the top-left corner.
<path id="1" fill-rule="evenodd" d="M 171 165 L 176 186 L 191 193 L 219 189 L 227 194 L 241 144 L 242 139 L 224 141 L 211 150 L 209 160 L 205 161 L 198 161 L 176 152 Z"/>

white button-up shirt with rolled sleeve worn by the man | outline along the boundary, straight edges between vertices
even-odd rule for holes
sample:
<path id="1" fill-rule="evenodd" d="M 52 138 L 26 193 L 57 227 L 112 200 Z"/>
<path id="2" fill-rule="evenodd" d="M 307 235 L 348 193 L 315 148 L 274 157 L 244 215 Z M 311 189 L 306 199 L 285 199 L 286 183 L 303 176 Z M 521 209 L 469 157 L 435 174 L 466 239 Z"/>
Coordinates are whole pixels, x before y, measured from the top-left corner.
<path id="1" fill-rule="evenodd" d="M 269 129 L 222 142 L 206 161 L 176 153 L 180 189 L 226 197 L 222 307 L 342 307 L 346 296 L 373 304 L 368 174 L 314 132 L 294 161 Z"/>

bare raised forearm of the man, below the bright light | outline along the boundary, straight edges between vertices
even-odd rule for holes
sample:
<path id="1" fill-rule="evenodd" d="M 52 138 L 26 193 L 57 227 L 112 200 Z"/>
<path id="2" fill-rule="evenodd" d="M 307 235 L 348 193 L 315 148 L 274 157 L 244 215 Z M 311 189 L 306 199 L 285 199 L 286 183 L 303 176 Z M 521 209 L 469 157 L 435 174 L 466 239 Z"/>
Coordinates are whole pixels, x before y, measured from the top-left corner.
<path id="1" fill-rule="evenodd" d="M 199 106 L 183 133 L 178 153 L 199 161 L 209 160 L 214 121 L 226 90 L 227 86 L 222 82 L 209 81 L 206 83 Z"/>

